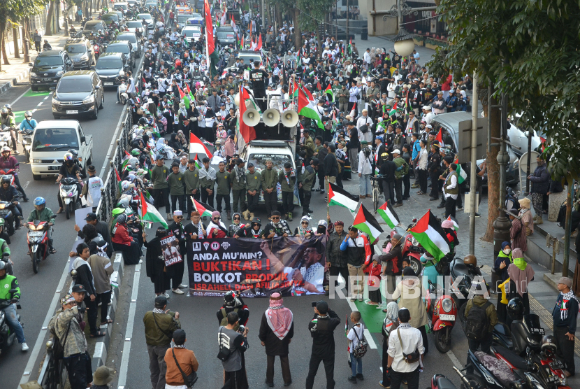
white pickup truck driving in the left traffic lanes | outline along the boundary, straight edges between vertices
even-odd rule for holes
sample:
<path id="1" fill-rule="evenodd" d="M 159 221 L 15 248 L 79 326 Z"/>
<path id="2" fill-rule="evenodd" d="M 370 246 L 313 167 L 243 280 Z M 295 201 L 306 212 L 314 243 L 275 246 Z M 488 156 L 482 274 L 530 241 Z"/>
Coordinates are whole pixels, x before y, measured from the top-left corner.
<path id="1" fill-rule="evenodd" d="M 32 178 L 40 180 L 43 174 L 57 175 L 68 150 L 78 152 L 82 176 L 86 176 L 93 157 L 93 136 L 85 135 L 77 120 L 39 122 L 30 149 Z"/>

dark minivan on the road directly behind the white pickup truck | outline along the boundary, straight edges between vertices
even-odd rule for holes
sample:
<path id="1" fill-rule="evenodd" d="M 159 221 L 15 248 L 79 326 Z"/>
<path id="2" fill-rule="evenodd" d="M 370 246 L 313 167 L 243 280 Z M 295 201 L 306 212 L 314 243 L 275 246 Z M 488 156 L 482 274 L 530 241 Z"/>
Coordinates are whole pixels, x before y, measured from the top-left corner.
<path id="1" fill-rule="evenodd" d="M 99 117 L 103 108 L 105 95 L 99 76 L 93 70 L 68 71 L 61 77 L 57 87 L 51 87 L 52 116 L 59 119 L 63 116 Z"/>

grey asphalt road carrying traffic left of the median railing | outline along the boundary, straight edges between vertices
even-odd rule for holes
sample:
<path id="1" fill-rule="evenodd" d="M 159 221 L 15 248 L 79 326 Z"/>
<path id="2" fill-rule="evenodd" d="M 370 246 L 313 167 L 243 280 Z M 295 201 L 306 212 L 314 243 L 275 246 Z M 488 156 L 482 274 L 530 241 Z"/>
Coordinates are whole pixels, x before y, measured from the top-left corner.
<path id="1" fill-rule="evenodd" d="M 138 68 L 136 68 L 138 69 Z M 42 120 L 53 120 L 51 111 L 52 92 L 31 92 L 29 85 L 21 85 L 10 88 L 9 92 L 0 96 L 0 105 L 11 104 L 16 115 L 16 122 L 20 125 L 23 119 L 24 111 L 34 111 L 33 118 L 38 122 Z M 106 90 L 105 104 L 103 110 L 99 112 L 99 118 L 92 120 L 89 118 L 77 118 L 85 134 L 93 136 L 93 164 L 97 172 L 100 172 L 108 148 L 117 129 L 117 123 L 122 114 L 123 106 L 115 104 L 116 90 Z M 20 162 L 20 183 L 31 201 L 22 203 L 24 218 L 27 218 L 30 211 L 34 208 L 32 200 L 35 197 L 45 197 L 48 208 L 57 211 L 59 206 L 57 202 L 58 187 L 55 184 L 55 178 L 43 176 L 41 181 L 32 179 L 29 164 L 24 162 L 22 145 L 19 144 L 21 155 L 16 156 Z M 66 151 L 66 150 L 65 150 Z M 63 151 L 63 153 L 65 153 Z M 57 253 L 50 255 L 47 260 L 41 263 L 38 274 L 32 271 L 32 265 L 29 256 L 27 256 L 26 229 L 20 229 L 16 234 L 10 237 L 10 250 L 12 251 L 12 260 L 15 262 L 15 276 L 20 283 L 22 298 L 20 304 L 22 310 L 20 314 L 24 321 L 24 335 L 30 350 L 23 353 L 18 344 L 3 350 L 0 355 L 0 376 L 2 377 L 2 388 L 19 388 L 18 383 L 24 374 L 27 365 L 34 366 L 31 369 L 31 376 L 38 375 L 37 369 L 41 358 L 45 355 L 45 339 L 47 331 L 43 330 L 43 322 L 48 314 L 49 306 L 55 293 L 60 295 L 57 285 L 64 275 L 65 269 L 68 269 L 68 252 L 71 250 L 73 241 L 75 241 L 74 219 L 66 220 L 64 213 L 58 215 L 55 223 L 55 231 L 52 234 L 55 240 Z M 66 285 L 70 283 L 70 276 L 66 278 Z M 52 316 L 52 312 L 50 313 Z M 33 353 L 33 348 L 37 339 L 41 339 L 40 352 Z M 29 363 L 29 359 L 35 359 L 34 365 Z"/>

